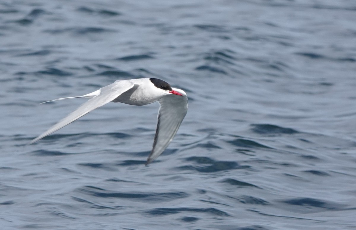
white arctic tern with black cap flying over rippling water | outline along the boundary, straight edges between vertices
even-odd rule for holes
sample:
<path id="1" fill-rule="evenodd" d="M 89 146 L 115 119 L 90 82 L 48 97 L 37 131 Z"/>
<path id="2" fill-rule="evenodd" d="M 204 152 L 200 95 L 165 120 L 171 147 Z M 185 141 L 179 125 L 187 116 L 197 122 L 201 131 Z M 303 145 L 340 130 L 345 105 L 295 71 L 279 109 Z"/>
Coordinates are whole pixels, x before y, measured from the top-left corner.
<path id="1" fill-rule="evenodd" d="M 146 162 L 147 165 L 161 155 L 169 143 L 171 143 L 188 111 L 187 94 L 181 89 L 172 88 L 167 82 L 157 78 L 117 80 L 110 85 L 83 96 L 58 98 L 50 101 L 71 98 L 91 99 L 80 105 L 76 110 L 43 132 L 40 136 L 33 139 L 29 144 L 52 134 L 110 101 L 129 105 L 147 105 L 158 101 L 159 111 L 156 135 L 153 141 L 152 151 Z M 49 101 L 43 103 L 46 102 Z"/>

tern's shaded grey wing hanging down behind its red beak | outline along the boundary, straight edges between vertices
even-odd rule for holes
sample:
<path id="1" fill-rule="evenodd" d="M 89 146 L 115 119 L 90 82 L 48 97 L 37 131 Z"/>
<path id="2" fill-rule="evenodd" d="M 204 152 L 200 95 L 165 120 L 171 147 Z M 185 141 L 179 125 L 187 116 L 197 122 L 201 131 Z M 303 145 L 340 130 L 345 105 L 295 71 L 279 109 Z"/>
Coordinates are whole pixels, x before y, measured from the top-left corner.
<path id="1" fill-rule="evenodd" d="M 155 141 L 153 142 L 152 151 L 150 156 L 148 156 L 146 165 L 155 160 L 167 148 L 176 135 L 185 114 L 187 114 L 187 94 L 181 89 L 172 89 L 183 96 L 172 94 L 158 100 L 160 106 Z"/>

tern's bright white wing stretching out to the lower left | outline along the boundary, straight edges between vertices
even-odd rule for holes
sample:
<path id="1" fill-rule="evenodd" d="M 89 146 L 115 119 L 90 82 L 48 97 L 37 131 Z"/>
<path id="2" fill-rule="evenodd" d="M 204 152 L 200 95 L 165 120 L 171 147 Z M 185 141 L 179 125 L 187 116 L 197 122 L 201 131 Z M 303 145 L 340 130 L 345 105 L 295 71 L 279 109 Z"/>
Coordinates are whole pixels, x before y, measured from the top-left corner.
<path id="1" fill-rule="evenodd" d="M 126 92 L 127 90 L 131 89 L 135 84 L 128 81 L 128 80 L 121 80 L 116 81 L 110 85 L 107 85 L 100 89 L 100 94 L 94 96 L 93 98 L 89 99 L 84 104 L 80 105 L 76 110 L 70 113 L 68 116 L 64 117 L 60 120 L 57 124 L 53 125 L 49 128 L 46 132 L 41 134 L 40 136 L 33 139 L 29 144 L 32 144 L 45 136 L 63 128 L 64 126 L 72 123 L 73 121 L 77 120 L 79 117 L 84 116 L 85 114 L 89 113 L 90 111 L 103 106 L 110 101 L 114 100 L 122 93 Z M 94 93 L 94 92 L 93 92 Z"/>

